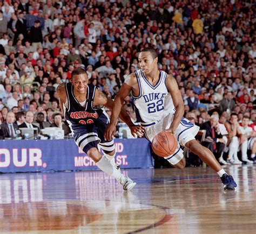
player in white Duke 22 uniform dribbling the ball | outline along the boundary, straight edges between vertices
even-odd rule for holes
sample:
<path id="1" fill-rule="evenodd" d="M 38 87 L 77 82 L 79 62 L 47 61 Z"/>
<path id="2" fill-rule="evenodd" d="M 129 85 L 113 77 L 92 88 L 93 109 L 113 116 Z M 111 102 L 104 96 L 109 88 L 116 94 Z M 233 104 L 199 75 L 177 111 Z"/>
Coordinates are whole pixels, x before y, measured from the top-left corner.
<path id="1" fill-rule="evenodd" d="M 179 169 L 185 167 L 186 161 L 180 145 L 186 146 L 218 173 L 224 183 L 224 189 L 234 190 L 237 184 L 233 177 L 227 175 L 213 153 L 194 138 L 199 127 L 183 118 L 184 102 L 178 84 L 171 75 L 158 70 L 157 52 L 153 48 L 144 48 L 139 53 L 138 59 L 141 69 L 126 78 L 114 99 L 112 116 L 104 134 L 105 138 L 109 140 L 112 138 L 116 131 L 116 121 L 124 98 L 132 91 L 137 120 L 144 127 L 144 130 L 137 129 L 139 134 L 131 129 L 132 134 L 137 133 L 141 137 L 144 132 L 145 137 L 152 141 L 160 131 L 170 132 L 178 141 L 176 151 L 165 157 L 171 165 Z"/>

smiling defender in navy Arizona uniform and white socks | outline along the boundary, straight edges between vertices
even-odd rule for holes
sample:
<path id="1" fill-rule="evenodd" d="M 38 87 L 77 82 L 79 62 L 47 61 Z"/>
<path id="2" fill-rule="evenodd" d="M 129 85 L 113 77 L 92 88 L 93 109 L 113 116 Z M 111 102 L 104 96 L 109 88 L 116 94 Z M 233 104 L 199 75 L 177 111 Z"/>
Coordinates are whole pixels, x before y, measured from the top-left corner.
<path id="1" fill-rule="evenodd" d="M 77 68 L 71 73 L 71 83 L 62 83 L 57 88 L 59 104 L 69 123 L 76 144 L 95 161 L 103 172 L 117 179 L 124 190 L 131 190 L 136 183 L 123 175 L 114 162 L 114 141 L 105 140 L 104 131 L 109 124 L 104 107 L 112 109 L 113 101 L 107 98 L 99 89 L 88 84 L 86 71 Z M 124 110 L 120 111 L 120 118 L 137 131 L 140 126 L 131 122 Z M 104 155 L 100 154 L 98 145 Z"/>

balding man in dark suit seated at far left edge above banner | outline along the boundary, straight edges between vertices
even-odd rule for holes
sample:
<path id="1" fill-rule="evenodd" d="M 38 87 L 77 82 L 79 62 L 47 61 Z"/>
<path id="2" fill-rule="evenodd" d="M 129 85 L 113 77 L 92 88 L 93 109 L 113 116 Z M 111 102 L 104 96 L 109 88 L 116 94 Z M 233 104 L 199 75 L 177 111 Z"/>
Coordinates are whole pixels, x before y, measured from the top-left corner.
<path id="1" fill-rule="evenodd" d="M 3 131 L 4 138 L 14 139 L 17 136 L 20 136 L 21 131 L 19 131 L 19 127 L 15 122 L 15 114 L 14 112 L 8 112 L 6 117 L 6 123 L 1 125 L 1 129 Z"/>

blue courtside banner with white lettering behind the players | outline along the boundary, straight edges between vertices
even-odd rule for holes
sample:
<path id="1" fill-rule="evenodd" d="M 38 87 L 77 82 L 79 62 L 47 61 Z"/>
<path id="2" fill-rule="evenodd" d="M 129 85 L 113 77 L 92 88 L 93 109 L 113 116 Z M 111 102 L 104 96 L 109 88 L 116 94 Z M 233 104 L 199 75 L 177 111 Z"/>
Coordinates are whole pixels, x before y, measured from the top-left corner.
<path id="1" fill-rule="evenodd" d="M 153 165 L 146 139 L 114 139 L 121 168 Z M 97 169 L 73 139 L 0 140 L 0 172 L 77 171 Z"/>

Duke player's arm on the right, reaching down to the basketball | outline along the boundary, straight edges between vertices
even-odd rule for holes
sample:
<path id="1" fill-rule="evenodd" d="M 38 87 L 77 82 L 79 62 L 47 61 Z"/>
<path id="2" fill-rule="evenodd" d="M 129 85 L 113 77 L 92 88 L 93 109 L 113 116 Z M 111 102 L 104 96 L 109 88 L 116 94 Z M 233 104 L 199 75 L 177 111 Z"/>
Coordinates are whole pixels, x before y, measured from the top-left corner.
<path id="1" fill-rule="evenodd" d="M 172 96 L 172 101 L 176 109 L 170 129 L 166 131 L 174 134 L 174 131 L 177 129 L 178 125 L 180 124 L 180 120 L 184 115 L 184 102 L 179 91 L 177 81 L 171 75 L 167 76 L 165 83 L 169 93 Z"/>

